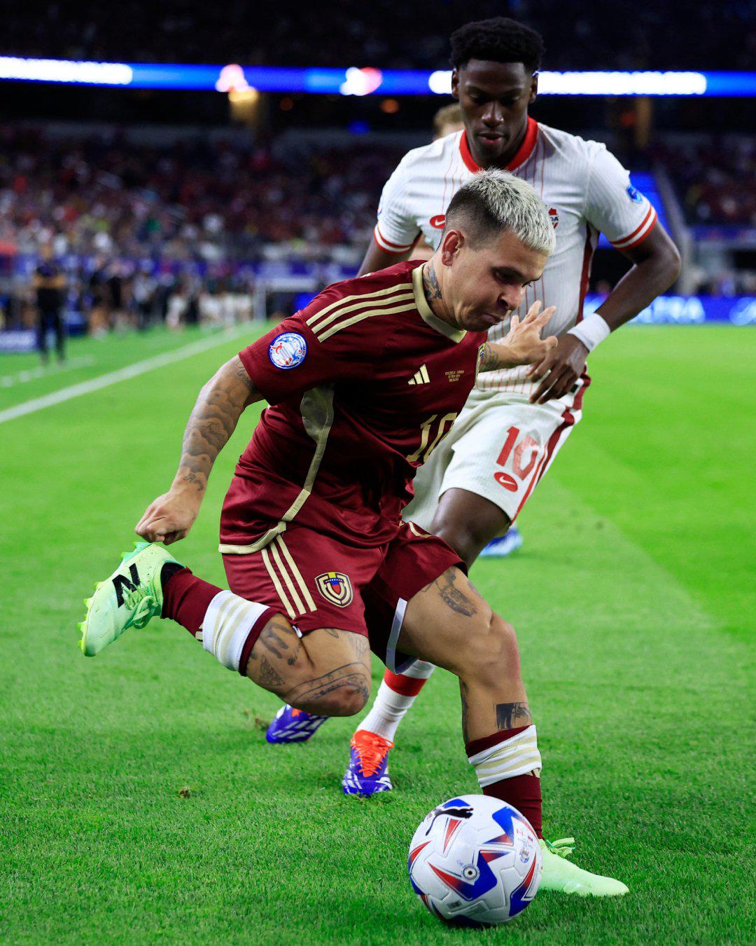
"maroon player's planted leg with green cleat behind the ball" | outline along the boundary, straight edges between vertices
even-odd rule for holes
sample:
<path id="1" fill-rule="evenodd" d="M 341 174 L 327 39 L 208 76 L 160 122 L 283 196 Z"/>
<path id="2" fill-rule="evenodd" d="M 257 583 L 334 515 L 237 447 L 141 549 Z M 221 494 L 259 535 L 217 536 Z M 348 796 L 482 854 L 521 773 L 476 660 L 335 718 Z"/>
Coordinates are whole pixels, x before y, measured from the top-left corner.
<path id="1" fill-rule="evenodd" d="M 541 838 L 541 889 L 611 897 L 627 886 L 567 861 L 572 848 L 541 834 L 541 753 L 520 673 L 517 637 L 460 569 L 447 569 L 406 605 L 397 647 L 459 678 L 462 732 L 484 795 L 501 798 Z"/>

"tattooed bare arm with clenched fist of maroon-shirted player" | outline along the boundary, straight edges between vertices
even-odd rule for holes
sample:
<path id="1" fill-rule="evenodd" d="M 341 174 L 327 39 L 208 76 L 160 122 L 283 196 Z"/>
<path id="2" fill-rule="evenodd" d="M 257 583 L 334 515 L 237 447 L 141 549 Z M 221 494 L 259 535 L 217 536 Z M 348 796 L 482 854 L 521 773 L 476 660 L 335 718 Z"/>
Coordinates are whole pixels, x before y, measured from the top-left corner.
<path id="1" fill-rule="evenodd" d="M 171 488 L 147 506 L 136 525 L 137 534 L 165 545 L 188 534 L 198 517 L 215 458 L 228 443 L 244 409 L 262 399 L 238 355 L 215 372 L 199 392 L 186 423 L 179 469 Z"/>

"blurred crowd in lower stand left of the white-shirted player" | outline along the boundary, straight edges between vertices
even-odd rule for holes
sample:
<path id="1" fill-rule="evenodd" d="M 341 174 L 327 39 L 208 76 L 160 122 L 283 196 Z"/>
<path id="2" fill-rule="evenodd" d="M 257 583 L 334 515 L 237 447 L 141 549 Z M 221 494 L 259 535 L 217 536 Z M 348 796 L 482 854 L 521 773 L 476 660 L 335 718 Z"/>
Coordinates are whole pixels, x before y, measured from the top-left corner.
<path id="1" fill-rule="evenodd" d="M 268 243 L 298 254 L 363 242 L 401 150 L 354 146 L 290 160 L 266 147 L 135 147 L 118 136 L 44 140 L 0 129 L 0 240 L 20 254 L 118 254 L 208 263 Z"/>

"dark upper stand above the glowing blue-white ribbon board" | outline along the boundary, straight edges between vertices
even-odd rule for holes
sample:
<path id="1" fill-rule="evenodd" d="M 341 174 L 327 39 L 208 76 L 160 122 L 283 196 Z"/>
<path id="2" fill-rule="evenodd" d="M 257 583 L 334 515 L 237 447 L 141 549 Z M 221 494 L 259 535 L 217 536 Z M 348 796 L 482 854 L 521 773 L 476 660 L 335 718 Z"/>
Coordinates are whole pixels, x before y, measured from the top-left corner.
<path id="1" fill-rule="evenodd" d="M 575 0 L 479 0 L 475 16 L 512 16 L 538 28 L 552 69 L 750 69 L 756 26 L 747 0 L 691 5 L 685 0 L 638 4 L 615 0 L 610 16 Z M 364 4 L 335 0 L 301 4 L 200 4 L 163 0 L 145 28 L 140 0 L 108 9 L 57 0 L 18 7 L 3 31 L 6 55 L 162 62 L 241 62 L 273 65 L 372 65 L 442 68 L 449 34 L 470 19 L 465 0 Z M 671 24 L 695 23 L 690 28 Z M 570 37 L 565 42 L 565 37 Z M 692 42 L 692 40 L 694 42 Z"/>

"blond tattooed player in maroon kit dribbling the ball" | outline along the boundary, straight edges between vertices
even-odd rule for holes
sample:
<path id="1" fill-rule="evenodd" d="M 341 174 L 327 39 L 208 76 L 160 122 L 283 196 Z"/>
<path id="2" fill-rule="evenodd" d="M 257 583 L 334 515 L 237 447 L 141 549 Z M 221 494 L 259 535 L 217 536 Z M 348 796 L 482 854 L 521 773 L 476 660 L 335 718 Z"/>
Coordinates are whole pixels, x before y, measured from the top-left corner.
<path id="1" fill-rule="evenodd" d="M 481 173 L 457 191 L 428 262 L 329 287 L 227 362 L 199 394 L 169 492 L 136 531 L 166 545 L 188 533 L 219 450 L 244 409 L 265 399 L 221 516 L 231 590 L 158 545 L 137 544 L 88 602 L 81 647 L 94 656 L 162 615 L 229 669 L 330 716 L 364 707 L 370 650 L 396 671 L 432 660 L 459 677 L 483 792 L 541 837 L 541 886 L 610 895 L 627 887 L 542 841 L 541 755 L 513 628 L 442 539 L 401 517 L 415 470 L 451 428 L 476 372 L 537 362 L 556 343 L 541 340 L 551 310 L 539 306 L 513 320 L 503 344 L 485 335 L 519 306 L 554 244 L 529 184 Z"/>

